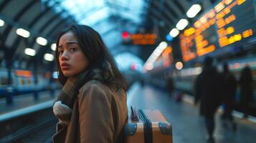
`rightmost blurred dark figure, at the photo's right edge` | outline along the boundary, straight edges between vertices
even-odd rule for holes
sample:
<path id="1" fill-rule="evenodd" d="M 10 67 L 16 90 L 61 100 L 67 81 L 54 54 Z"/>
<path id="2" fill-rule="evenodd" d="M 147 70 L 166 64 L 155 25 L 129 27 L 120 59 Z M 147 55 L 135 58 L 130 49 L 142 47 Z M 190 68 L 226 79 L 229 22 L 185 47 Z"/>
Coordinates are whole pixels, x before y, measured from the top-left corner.
<path id="1" fill-rule="evenodd" d="M 244 112 L 244 118 L 248 117 L 249 106 L 253 102 L 252 97 L 252 72 L 249 65 L 242 69 L 240 77 L 240 104 Z"/>

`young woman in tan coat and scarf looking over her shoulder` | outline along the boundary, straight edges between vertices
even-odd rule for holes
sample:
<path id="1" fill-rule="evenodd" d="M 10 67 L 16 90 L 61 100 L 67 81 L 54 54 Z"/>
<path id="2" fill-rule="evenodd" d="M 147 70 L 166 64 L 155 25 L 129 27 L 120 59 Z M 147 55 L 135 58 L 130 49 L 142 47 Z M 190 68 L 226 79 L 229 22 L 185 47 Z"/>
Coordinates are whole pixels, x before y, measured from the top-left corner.
<path id="1" fill-rule="evenodd" d="M 55 54 L 62 91 L 53 112 L 55 142 L 122 142 L 127 121 L 125 78 L 97 31 L 72 25 L 60 32 Z"/>

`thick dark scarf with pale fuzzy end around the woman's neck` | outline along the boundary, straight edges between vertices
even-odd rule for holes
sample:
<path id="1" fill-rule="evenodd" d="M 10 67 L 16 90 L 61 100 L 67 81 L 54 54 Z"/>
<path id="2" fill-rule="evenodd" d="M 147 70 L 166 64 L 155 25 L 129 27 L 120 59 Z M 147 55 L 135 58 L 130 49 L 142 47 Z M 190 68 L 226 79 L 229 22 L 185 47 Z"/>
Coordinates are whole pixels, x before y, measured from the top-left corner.
<path id="1" fill-rule="evenodd" d="M 103 72 L 104 71 L 104 72 Z M 62 91 L 54 102 L 53 112 L 59 119 L 60 124 L 69 124 L 72 114 L 72 107 L 79 94 L 79 89 L 90 80 L 105 81 L 113 79 L 113 71 L 110 63 L 105 62 L 103 66 L 95 69 L 88 69 L 75 77 L 69 77 L 62 87 Z"/>

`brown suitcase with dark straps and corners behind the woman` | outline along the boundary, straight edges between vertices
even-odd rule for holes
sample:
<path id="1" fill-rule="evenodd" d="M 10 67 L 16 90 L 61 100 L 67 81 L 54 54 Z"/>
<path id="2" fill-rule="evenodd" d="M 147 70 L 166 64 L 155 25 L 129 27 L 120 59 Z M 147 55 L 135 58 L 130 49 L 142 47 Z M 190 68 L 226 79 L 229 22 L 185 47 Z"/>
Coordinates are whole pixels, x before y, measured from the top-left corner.
<path id="1" fill-rule="evenodd" d="M 172 143 L 171 124 L 159 110 L 131 108 L 131 117 L 124 129 L 125 143 Z"/>

